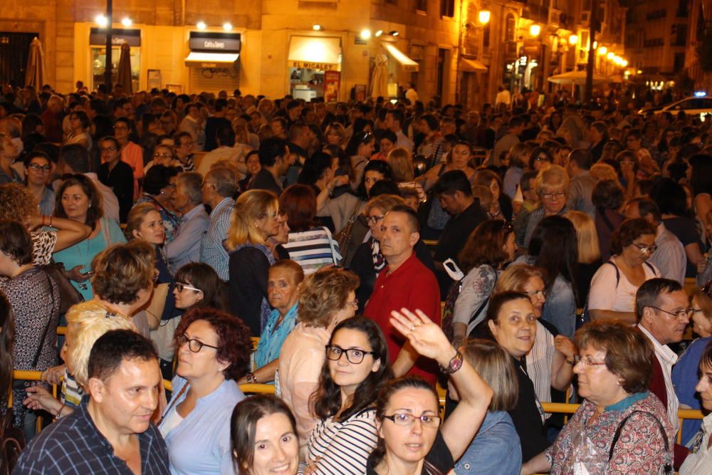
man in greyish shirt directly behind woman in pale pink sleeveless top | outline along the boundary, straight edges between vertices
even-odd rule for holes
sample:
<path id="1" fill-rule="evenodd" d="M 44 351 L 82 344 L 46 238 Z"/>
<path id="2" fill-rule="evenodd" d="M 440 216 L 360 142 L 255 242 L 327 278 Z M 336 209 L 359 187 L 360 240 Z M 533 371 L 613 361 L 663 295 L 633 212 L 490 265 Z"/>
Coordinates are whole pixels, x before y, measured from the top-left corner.
<path id="1" fill-rule="evenodd" d="M 677 236 L 666 229 L 658 205 L 648 198 L 631 199 L 625 209 L 625 217 L 643 218 L 655 226 L 656 249 L 650 254 L 648 262 L 659 269 L 661 277 L 684 285 L 687 268 L 685 247 Z"/>

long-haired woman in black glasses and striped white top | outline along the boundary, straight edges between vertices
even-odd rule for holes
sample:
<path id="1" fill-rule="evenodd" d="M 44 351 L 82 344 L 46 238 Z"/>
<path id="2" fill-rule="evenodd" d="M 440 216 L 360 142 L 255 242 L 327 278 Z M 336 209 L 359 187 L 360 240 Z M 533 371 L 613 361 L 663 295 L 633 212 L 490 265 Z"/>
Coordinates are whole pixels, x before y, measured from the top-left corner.
<path id="1" fill-rule="evenodd" d="M 375 403 L 392 379 L 388 346 L 373 320 L 354 317 L 336 325 L 311 395 L 321 421 L 309 437 L 305 474 L 360 475 L 376 447 Z"/>

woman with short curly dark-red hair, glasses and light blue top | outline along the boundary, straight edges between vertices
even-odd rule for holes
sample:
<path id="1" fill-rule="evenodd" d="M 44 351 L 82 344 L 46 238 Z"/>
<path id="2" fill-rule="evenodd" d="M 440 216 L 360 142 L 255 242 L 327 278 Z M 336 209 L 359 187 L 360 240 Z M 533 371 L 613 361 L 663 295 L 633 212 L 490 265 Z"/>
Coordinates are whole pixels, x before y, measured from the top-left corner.
<path id="1" fill-rule="evenodd" d="M 250 334 L 239 318 L 193 308 L 176 329 L 173 396 L 158 428 L 173 474 L 234 474 L 230 414 L 244 400 L 236 380 L 250 360 Z"/>

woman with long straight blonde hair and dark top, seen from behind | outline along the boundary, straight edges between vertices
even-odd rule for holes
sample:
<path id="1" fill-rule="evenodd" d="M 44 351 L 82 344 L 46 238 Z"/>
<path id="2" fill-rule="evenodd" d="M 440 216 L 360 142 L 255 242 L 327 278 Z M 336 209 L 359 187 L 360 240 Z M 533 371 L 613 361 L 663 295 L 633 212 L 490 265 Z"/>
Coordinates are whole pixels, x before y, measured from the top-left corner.
<path id="1" fill-rule="evenodd" d="M 578 241 L 578 266 L 576 271 L 577 307 L 583 308 L 588 297 L 591 279 L 601 266 L 601 250 L 598 245 L 598 233 L 592 217 L 580 211 L 570 211 L 564 217 L 576 228 Z"/>

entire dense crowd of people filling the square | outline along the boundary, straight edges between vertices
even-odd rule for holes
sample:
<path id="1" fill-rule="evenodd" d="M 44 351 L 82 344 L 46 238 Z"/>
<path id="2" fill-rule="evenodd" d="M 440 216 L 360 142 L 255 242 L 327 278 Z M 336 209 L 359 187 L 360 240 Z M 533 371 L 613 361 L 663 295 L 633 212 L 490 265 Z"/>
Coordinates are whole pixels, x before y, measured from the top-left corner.
<path id="1" fill-rule="evenodd" d="M 14 473 L 708 474 L 712 121 L 531 98 L 4 88 Z"/>

